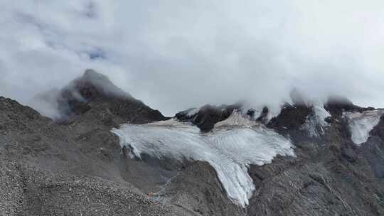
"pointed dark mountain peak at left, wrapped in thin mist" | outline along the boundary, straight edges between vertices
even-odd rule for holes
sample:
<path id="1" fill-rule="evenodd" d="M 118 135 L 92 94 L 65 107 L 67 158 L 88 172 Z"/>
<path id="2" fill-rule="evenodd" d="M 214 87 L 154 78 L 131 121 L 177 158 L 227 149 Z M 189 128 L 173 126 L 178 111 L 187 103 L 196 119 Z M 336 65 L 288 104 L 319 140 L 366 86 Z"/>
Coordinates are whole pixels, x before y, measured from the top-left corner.
<path id="1" fill-rule="evenodd" d="M 114 85 L 107 76 L 92 69 L 65 86 L 58 97 L 60 112 L 66 116 L 88 112 L 92 108 L 105 109 L 122 121 L 142 124 L 167 119 L 139 99 Z"/>

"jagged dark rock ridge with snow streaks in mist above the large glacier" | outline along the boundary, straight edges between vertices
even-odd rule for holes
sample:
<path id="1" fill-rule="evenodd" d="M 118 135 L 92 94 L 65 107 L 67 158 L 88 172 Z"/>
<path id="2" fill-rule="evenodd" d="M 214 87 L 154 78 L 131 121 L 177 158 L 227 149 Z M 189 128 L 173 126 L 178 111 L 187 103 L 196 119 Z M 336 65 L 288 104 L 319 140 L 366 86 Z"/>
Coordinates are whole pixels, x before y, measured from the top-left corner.
<path id="1" fill-rule="evenodd" d="M 178 121 L 189 121 L 198 126 L 202 132 L 208 132 L 214 129 L 219 121 L 230 119 L 233 114 L 235 114 L 233 118 L 238 118 L 240 114 L 245 119 L 265 124 L 282 133 L 286 133 L 287 130 L 304 131 L 314 137 L 324 134 L 326 126 L 335 119 L 340 120 L 345 112 L 374 110 L 373 107 L 358 107 L 344 97 L 329 97 L 325 103 L 316 101 L 297 89 L 292 90 L 291 99 L 292 104 L 285 102 L 277 110 L 268 106 L 252 107 L 247 102 L 220 106 L 206 104 L 203 107 L 178 112 L 175 118 Z"/>

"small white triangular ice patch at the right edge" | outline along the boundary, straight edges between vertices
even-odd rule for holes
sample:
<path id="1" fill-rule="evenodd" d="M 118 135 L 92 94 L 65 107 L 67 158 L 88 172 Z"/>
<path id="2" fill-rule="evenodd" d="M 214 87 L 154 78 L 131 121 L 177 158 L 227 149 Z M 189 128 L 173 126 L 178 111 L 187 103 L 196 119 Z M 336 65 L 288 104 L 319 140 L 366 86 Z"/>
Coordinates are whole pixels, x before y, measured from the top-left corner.
<path id="1" fill-rule="evenodd" d="M 344 112 L 343 116 L 348 121 L 349 131 L 353 143 L 360 146 L 369 137 L 369 131 L 380 121 L 384 109 L 368 110 L 365 112 Z"/>

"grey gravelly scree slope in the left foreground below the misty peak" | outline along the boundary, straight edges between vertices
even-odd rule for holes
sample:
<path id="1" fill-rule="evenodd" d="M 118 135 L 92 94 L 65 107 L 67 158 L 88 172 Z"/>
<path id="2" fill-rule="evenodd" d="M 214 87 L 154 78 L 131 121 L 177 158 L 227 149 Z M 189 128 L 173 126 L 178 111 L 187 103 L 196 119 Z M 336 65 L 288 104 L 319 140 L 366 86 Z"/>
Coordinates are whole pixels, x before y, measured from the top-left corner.
<path id="1" fill-rule="evenodd" d="M 108 131 L 60 126 L 3 97 L 0 110 L 3 215 L 176 214 L 119 175 Z"/>

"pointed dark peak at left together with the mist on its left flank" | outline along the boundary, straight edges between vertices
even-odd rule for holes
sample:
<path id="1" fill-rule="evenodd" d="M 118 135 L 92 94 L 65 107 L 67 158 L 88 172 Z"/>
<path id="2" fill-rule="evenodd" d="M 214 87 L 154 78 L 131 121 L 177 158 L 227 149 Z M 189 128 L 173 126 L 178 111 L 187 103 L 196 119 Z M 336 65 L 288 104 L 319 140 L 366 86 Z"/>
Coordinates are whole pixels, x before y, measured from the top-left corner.
<path id="1" fill-rule="evenodd" d="M 144 124 L 168 119 L 114 85 L 107 75 L 92 69 L 85 70 L 60 90 L 36 95 L 31 104 L 43 115 L 65 124 L 82 114 L 100 112 L 112 114 L 119 123 Z"/>

